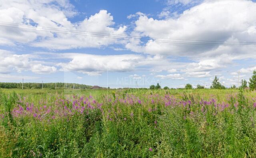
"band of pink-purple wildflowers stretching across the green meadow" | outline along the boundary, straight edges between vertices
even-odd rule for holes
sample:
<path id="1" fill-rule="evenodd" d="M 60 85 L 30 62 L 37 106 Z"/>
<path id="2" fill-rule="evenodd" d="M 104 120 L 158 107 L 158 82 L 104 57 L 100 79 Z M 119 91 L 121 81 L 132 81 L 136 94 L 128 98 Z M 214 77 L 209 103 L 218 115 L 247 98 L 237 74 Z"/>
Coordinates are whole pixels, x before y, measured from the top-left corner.
<path id="1" fill-rule="evenodd" d="M 20 98 L 18 105 L 12 110 L 12 115 L 14 118 L 30 116 L 36 119 L 56 119 L 64 118 L 67 116 L 72 116 L 74 114 L 88 114 L 89 110 L 100 109 L 102 114 L 106 113 L 105 116 L 108 116 L 108 120 L 115 120 L 117 118 L 122 118 L 124 121 L 127 120 L 128 116 L 122 114 L 121 106 L 131 106 L 131 111 L 129 111 L 130 117 L 134 117 L 132 108 L 136 108 L 139 105 L 147 108 L 148 112 L 154 112 L 156 110 L 161 110 L 161 108 L 173 108 L 181 107 L 190 111 L 189 115 L 194 115 L 194 112 L 190 110 L 193 106 L 198 106 L 198 111 L 205 114 L 207 112 L 208 106 L 216 109 L 216 112 L 223 111 L 225 108 L 229 108 L 231 104 L 222 102 L 217 103 L 213 98 L 209 100 L 182 100 L 178 97 L 165 95 L 159 96 L 158 94 L 154 95 L 143 95 L 142 98 L 138 98 L 135 95 L 127 94 L 124 96 L 118 96 L 116 98 L 111 96 L 106 96 L 102 101 L 108 102 L 108 111 L 102 109 L 102 103 L 97 102 L 92 96 L 72 96 L 70 98 L 65 98 L 61 96 L 56 96 L 54 102 L 48 103 L 48 100 L 41 99 L 39 103 L 29 103 L 26 102 L 26 98 Z M 141 101 L 143 100 L 143 101 Z M 253 108 L 256 108 L 256 100 L 252 100 Z M 110 103 L 110 104 L 109 104 Z M 36 106 L 34 105 L 36 104 Z M 120 106 L 117 106 L 120 105 Z M 158 107 L 162 106 L 162 107 Z M 238 102 L 234 103 L 234 107 L 238 107 Z M 129 115 L 128 114 L 128 115 Z M 137 113 L 136 113 L 137 115 Z M 141 114 L 143 115 L 143 113 Z M 4 118 L 6 114 L 0 113 L 0 118 Z M 186 116 L 184 116 L 186 119 Z M 155 122 L 156 124 L 156 122 Z"/>

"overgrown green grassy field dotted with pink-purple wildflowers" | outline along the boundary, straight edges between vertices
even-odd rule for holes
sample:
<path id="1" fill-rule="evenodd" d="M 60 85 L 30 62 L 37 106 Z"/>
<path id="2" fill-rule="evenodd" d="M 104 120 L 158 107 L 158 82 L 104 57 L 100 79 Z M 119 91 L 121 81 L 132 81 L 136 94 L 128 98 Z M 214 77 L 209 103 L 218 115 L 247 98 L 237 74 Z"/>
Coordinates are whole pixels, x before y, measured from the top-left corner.
<path id="1" fill-rule="evenodd" d="M 256 157 L 256 92 L 0 92 L 0 157 Z"/>

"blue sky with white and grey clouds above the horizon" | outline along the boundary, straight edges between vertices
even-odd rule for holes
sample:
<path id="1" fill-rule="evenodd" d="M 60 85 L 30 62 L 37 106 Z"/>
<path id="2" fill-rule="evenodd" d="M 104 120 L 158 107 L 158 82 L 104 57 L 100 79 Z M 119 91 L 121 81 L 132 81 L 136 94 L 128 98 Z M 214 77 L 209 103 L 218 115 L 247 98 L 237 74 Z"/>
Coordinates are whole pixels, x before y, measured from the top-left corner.
<path id="1" fill-rule="evenodd" d="M 0 0 L 0 82 L 230 87 L 255 63 L 256 0 Z"/>

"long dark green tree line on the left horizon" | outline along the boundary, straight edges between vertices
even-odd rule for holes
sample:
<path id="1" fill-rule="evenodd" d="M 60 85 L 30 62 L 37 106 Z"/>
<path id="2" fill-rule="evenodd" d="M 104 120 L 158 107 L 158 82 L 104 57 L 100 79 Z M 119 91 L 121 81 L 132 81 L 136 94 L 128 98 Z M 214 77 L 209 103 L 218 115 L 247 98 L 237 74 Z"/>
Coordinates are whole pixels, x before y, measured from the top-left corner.
<path id="1" fill-rule="evenodd" d="M 75 88 L 75 89 L 87 89 L 92 86 L 88 86 L 85 84 L 75 84 L 75 83 L 62 83 L 57 82 L 56 88 Z M 14 83 L 14 82 L 0 82 L 0 88 L 22 88 L 22 83 Z M 40 89 L 42 88 L 42 83 L 24 83 L 24 89 Z M 55 89 L 55 83 L 43 83 L 43 88 Z"/>

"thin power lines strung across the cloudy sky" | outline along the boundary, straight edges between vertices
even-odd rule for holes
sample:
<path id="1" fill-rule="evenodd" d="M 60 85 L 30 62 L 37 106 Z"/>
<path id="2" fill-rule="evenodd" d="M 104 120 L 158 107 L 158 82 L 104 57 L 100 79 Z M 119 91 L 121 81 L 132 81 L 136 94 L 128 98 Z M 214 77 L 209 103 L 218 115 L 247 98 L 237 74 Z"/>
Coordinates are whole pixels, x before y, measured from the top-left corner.
<path id="1" fill-rule="evenodd" d="M 10 28 L 20 28 L 20 29 L 26 29 L 26 30 L 34 30 L 34 31 L 43 31 L 43 32 L 72 34 L 72 35 L 79 35 L 79 36 L 112 38 L 112 39 L 120 39 L 120 40 L 137 40 L 137 41 L 144 41 L 144 42 L 148 42 L 149 40 L 152 40 L 152 39 L 131 38 L 129 36 L 127 36 L 127 37 L 109 36 L 109 35 L 102 35 L 100 33 L 98 33 L 98 34 L 88 34 L 88 33 L 81 34 L 81 33 L 78 33 L 78 32 L 71 32 L 70 33 L 70 31 L 62 31 L 62 30 L 58 30 L 58 31 L 62 31 L 62 32 L 58 32 L 58 31 L 53 30 L 53 29 L 45 29 L 45 28 L 39 28 L 39 29 L 45 29 L 45 30 L 38 30 L 38 28 L 35 28 L 34 26 L 28 26 L 28 25 L 26 25 L 28 28 L 21 28 L 21 27 L 24 27 L 24 26 L 18 27 L 19 25 L 16 25 L 16 26 L 0 25 L 0 26 L 10 27 Z M 124 36 L 124 35 L 122 35 L 122 36 Z M 255 44 L 227 44 L 227 43 L 226 44 L 221 44 L 221 43 L 208 43 L 208 42 L 183 42 L 183 41 L 167 41 L 167 40 L 153 40 L 153 42 L 172 43 L 172 44 L 211 45 L 211 46 L 219 46 L 219 45 L 222 45 L 222 46 L 256 46 Z M 215 42 L 217 42 L 217 41 L 215 41 Z M 250 42 L 250 43 L 252 43 L 252 42 Z"/>

